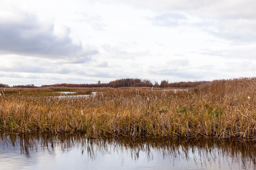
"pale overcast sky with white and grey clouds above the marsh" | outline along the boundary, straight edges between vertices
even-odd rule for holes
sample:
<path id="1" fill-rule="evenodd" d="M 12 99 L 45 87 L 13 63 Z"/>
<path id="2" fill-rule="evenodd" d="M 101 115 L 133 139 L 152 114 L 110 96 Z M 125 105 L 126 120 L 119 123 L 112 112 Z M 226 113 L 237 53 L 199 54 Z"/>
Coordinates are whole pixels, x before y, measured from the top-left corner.
<path id="1" fill-rule="evenodd" d="M 0 83 L 256 75 L 254 0 L 0 0 Z"/>

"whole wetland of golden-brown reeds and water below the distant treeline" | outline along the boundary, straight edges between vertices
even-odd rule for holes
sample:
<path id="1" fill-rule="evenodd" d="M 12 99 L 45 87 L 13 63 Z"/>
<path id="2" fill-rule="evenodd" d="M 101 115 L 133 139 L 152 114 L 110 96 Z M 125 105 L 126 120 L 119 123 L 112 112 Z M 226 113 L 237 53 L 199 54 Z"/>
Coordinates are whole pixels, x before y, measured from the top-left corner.
<path id="1" fill-rule="evenodd" d="M 0 167 L 256 169 L 255 89 L 0 88 Z"/>

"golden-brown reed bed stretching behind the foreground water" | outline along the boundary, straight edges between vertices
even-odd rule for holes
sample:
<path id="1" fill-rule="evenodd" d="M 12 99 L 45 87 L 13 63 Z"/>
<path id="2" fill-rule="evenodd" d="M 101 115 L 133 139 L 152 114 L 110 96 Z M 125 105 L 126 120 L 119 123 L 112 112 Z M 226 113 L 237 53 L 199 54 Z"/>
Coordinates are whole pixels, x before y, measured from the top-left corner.
<path id="1" fill-rule="evenodd" d="M 79 94 L 99 92 L 89 97 L 58 98 L 49 95 L 50 88 L 48 95 L 38 93 L 44 88 L 0 89 L 0 131 L 256 139 L 255 89 L 256 78 L 215 80 L 186 91 L 70 88 Z"/>

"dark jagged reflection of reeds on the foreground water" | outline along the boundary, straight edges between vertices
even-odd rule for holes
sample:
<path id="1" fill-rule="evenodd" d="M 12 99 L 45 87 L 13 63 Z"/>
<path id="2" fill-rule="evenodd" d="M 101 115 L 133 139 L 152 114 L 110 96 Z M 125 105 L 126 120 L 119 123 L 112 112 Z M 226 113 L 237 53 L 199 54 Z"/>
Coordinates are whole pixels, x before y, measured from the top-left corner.
<path id="1" fill-rule="evenodd" d="M 130 157 L 133 162 L 140 159 L 148 163 L 154 159 L 167 161 L 175 167 L 176 163 L 193 163 L 196 167 L 207 169 L 223 165 L 237 169 L 256 169 L 255 141 L 232 141 L 217 139 L 168 139 L 144 138 L 130 139 L 95 138 L 88 139 L 83 133 L 30 134 L 30 135 L 0 135 L 0 148 L 20 148 L 20 154 L 27 158 L 36 152 L 46 152 L 55 155 L 57 150 L 68 154 L 78 150 L 89 161 L 100 159 L 98 156 L 120 155 L 121 161 Z M 156 156 L 158 155 L 158 157 Z M 236 168 L 233 168 L 236 169 Z"/>

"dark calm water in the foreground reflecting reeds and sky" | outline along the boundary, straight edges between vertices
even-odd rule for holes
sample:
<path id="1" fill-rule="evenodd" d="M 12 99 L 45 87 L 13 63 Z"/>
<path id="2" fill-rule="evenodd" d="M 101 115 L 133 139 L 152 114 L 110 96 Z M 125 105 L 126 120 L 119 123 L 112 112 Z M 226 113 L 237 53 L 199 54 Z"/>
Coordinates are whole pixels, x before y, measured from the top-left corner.
<path id="1" fill-rule="evenodd" d="M 256 142 L 0 135 L 0 170 L 249 170 Z"/>

